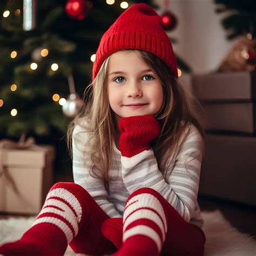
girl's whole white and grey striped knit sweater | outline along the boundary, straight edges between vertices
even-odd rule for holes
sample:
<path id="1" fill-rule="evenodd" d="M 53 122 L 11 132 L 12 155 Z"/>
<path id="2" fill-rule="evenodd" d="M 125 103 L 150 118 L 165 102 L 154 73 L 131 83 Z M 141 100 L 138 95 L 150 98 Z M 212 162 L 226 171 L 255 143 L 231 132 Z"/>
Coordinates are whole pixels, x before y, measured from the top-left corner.
<path id="1" fill-rule="evenodd" d="M 114 160 L 109 171 L 110 178 L 114 180 L 109 183 L 108 193 L 103 181 L 91 177 L 83 164 L 86 136 L 82 127 L 77 125 L 72 139 L 73 178 L 75 183 L 91 194 L 109 217 L 123 217 L 125 203 L 130 194 L 139 188 L 151 187 L 158 191 L 185 221 L 203 227 L 204 222 L 197 201 L 201 169 L 199 146 L 202 139 L 195 126 L 192 126 L 179 152 L 174 153 L 167 182 L 158 169 L 152 149 L 127 158 L 121 155 L 114 144 Z"/>

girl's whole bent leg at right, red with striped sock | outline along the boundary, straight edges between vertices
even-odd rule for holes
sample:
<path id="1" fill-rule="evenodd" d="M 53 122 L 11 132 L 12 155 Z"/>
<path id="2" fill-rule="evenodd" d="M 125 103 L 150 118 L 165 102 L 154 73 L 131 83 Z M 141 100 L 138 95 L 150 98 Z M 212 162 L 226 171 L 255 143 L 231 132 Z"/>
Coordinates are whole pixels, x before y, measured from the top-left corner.
<path id="1" fill-rule="evenodd" d="M 197 255 L 204 253 L 203 231 L 186 223 L 152 188 L 140 188 L 127 199 L 123 245 L 114 255 Z"/>

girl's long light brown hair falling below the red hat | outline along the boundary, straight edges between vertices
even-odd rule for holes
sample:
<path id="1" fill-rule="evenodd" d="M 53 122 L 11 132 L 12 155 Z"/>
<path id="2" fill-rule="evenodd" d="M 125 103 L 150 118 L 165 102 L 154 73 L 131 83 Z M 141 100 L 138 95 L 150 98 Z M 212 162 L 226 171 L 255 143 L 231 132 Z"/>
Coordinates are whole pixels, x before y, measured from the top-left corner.
<path id="1" fill-rule="evenodd" d="M 179 151 L 186 134 L 192 129 L 192 125 L 196 126 L 201 134 L 203 143 L 200 144 L 200 154 L 202 154 L 201 157 L 204 156 L 205 132 L 193 113 L 194 104 L 196 103 L 199 106 L 200 104 L 174 77 L 173 72 L 163 60 L 142 50 L 129 49 L 122 51 L 136 51 L 161 80 L 164 100 L 161 109 L 155 115 L 161 124 L 161 133 L 151 143 L 151 146 L 157 159 L 158 168 L 166 180 L 170 175 L 170 166 L 175 157 L 173 152 L 177 153 Z M 76 135 L 73 134 L 72 136 L 74 127 L 79 125 L 84 133 L 87 133 L 84 134 L 88 138 L 88 141 L 84 142 L 87 145 L 83 153 L 84 165 L 89 168 L 93 177 L 104 180 L 106 188 L 108 188 L 110 181 L 109 170 L 114 163 L 112 157 L 113 143 L 118 129 L 107 96 L 109 58 L 110 56 L 104 60 L 95 80 L 86 87 L 84 107 L 71 122 L 67 132 L 71 157 L 72 139 L 76 140 Z M 83 134 L 80 134 L 80 136 L 83 137 Z"/>

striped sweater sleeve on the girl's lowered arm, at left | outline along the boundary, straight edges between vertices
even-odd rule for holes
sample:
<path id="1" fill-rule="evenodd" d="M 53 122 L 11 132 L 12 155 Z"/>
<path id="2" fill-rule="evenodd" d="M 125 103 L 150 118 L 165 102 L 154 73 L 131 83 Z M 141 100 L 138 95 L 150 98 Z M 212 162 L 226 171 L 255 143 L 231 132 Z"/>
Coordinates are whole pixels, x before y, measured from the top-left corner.
<path id="1" fill-rule="evenodd" d="M 85 188 L 110 218 L 122 217 L 116 210 L 116 207 L 109 202 L 103 180 L 93 178 L 87 166 L 84 165 L 83 150 L 86 145 L 86 136 L 87 134 L 83 131 L 82 127 L 76 125 L 72 134 L 73 179 L 76 184 Z"/>

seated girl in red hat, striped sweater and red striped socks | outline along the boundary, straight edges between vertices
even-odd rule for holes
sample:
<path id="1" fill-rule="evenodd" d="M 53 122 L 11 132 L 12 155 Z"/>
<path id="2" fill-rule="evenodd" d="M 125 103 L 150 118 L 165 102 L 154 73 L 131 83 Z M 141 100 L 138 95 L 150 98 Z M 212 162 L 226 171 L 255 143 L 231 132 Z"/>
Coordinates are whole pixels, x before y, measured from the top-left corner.
<path id="1" fill-rule="evenodd" d="M 178 82 L 160 17 L 134 4 L 96 52 L 86 107 L 69 129 L 75 183 L 57 183 L 3 255 L 203 255 L 197 202 L 204 131 Z"/>

